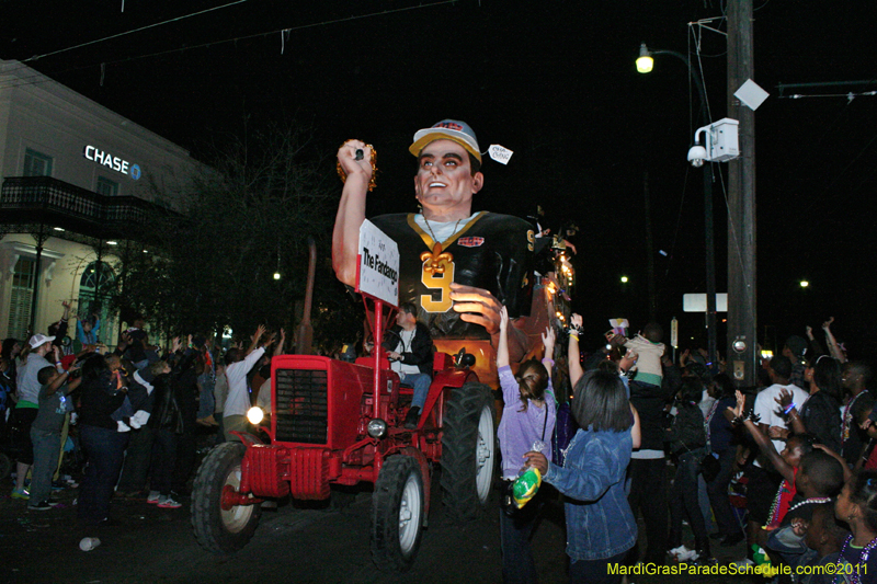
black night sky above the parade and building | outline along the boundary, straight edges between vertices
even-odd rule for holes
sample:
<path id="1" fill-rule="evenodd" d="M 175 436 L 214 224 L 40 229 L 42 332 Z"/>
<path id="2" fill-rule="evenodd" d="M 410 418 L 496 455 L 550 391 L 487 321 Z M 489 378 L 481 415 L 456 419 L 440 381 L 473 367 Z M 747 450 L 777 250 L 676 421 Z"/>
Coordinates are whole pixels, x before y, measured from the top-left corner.
<path id="1" fill-rule="evenodd" d="M 3 2 L 0 57 L 24 60 L 226 3 L 127 0 L 121 12 L 121 0 L 52 11 Z M 799 100 L 781 99 L 776 85 L 877 79 L 877 9 L 754 3 L 754 80 L 771 93 L 755 114 L 760 336 L 782 343 L 834 316 L 852 356 L 865 357 L 877 350 L 877 98 L 845 95 L 876 90 L 877 81 L 785 90 L 835 95 Z M 580 227 L 574 307 L 595 333 L 612 317 L 634 329 L 648 317 L 648 173 L 659 318 L 669 330 L 679 317 L 683 340 L 699 343 L 703 317 L 684 316 L 681 305 L 683 293 L 705 291 L 703 176 L 685 160 L 701 104 L 681 60 L 656 56 L 648 76 L 634 60 L 642 42 L 697 60 L 699 38 L 710 118 L 725 117 L 725 36 L 687 25 L 724 8 L 709 0 L 248 0 L 29 65 L 195 156 L 241 133 L 248 116 L 250 127 L 311 126 L 329 174 L 342 141 L 369 141 L 381 170 L 369 215 L 413 210 L 411 136 L 445 117 L 465 119 L 482 150 L 514 151 L 508 167 L 486 164 L 476 210 L 525 217 L 540 204 L 544 227 Z M 710 26 L 726 30 L 721 20 Z M 715 169 L 724 291 L 727 164 Z"/>

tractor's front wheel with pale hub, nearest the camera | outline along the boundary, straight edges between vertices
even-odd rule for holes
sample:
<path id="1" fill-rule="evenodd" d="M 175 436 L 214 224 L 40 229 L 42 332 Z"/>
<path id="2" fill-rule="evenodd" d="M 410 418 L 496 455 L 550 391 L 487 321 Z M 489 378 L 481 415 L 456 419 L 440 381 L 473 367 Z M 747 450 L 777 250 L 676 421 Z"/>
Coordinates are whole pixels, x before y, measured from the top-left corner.
<path id="1" fill-rule="evenodd" d="M 411 568 L 423 534 L 423 476 L 410 456 L 388 458 L 372 495 L 372 558 L 380 570 Z"/>

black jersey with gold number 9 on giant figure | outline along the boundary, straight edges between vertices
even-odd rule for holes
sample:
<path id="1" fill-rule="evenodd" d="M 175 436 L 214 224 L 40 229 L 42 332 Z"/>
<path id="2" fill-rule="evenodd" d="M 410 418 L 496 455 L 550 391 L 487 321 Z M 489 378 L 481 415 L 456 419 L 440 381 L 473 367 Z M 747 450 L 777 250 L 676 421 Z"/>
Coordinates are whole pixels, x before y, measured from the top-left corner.
<path id="1" fill-rule="evenodd" d="M 369 219 L 399 245 L 399 302 L 413 302 L 434 339 L 489 339 L 453 310 L 451 283 L 483 288 L 511 318 L 529 313 L 534 231 L 511 215 L 481 211 L 442 242 L 413 214 Z"/>

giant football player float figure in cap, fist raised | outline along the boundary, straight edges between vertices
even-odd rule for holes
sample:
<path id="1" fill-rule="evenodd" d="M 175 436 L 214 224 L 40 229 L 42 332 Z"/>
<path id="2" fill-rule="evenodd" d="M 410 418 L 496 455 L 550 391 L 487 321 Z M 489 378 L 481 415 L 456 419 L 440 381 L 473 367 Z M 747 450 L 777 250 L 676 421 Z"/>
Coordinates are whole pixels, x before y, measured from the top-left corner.
<path id="1" fill-rule="evenodd" d="M 418 319 L 429 325 L 440 351 L 441 339 L 490 340 L 496 347 L 500 308 L 504 305 L 513 318 L 529 311 L 533 229 L 516 217 L 472 214 L 485 176 L 478 140 L 465 122 L 443 119 L 419 130 L 409 151 L 418 157 L 414 195 L 422 211 L 371 219 L 401 251 L 399 301 L 419 307 Z M 360 140 L 338 151 L 346 179 L 332 233 L 332 265 L 348 285 L 355 284 L 372 157 L 372 147 Z M 520 360 L 527 339 L 511 330 L 511 357 Z"/>

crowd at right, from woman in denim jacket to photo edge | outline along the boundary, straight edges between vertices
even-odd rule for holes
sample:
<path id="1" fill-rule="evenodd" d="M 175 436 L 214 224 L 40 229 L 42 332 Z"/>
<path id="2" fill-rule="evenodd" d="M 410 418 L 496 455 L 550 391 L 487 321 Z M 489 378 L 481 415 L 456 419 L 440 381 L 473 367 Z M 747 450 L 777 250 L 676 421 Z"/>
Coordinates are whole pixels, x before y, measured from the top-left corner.
<path id="1" fill-rule="evenodd" d="M 872 373 L 866 363 L 847 359 L 832 320 L 822 325 L 824 344 L 810 328 L 806 339 L 788 337 L 778 355 L 763 359 L 758 386 L 744 391 L 706 351 L 684 351 L 673 359 L 653 323 L 629 339 L 607 334 L 606 344 L 583 360 L 582 376 L 573 364 L 584 332 L 570 328 L 571 409 L 582 430 L 567 447 L 566 463 L 526 455 L 568 501 L 570 580 L 620 582 L 623 572 L 613 575 L 612 564 L 714 566 L 716 545 L 739 552 L 745 542 L 745 557 L 734 562 L 740 572 L 795 574 L 777 581 L 809 584 L 833 582 L 842 573 L 852 574 L 843 582 L 874 581 Z M 573 316 L 571 322 L 581 319 Z M 611 416 L 588 414 L 594 403 L 603 404 L 604 413 L 612 410 L 613 383 L 592 377 L 601 371 L 620 376 L 635 413 L 612 428 L 614 438 L 605 438 Z M 579 440 L 592 445 L 597 437 L 604 439 L 600 446 L 570 460 Z M 620 474 L 613 466 L 618 460 L 626 470 Z M 674 469 L 672 480 L 668 468 Z M 616 504 L 607 502 L 615 489 L 626 497 L 608 512 L 612 528 L 604 529 L 589 512 L 605 516 L 606 505 Z M 627 518 L 631 513 L 642 517 L 643 549 L 636 522 Z M 583 527 L 588 537 L 580 539 L 576 534 Z"/>

